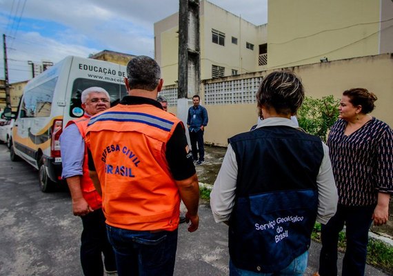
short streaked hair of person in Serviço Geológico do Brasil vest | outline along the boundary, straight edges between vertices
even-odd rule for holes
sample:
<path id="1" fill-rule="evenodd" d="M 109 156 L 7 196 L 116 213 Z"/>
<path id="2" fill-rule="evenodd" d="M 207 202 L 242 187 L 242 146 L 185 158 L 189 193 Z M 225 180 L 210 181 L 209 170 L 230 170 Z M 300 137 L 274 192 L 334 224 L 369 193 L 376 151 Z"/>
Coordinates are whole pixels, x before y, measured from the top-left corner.
<path id="1" fill-rule="evenodd" d="M 304 88 L 301 79 L 291 71 L 275 71 L 263 79 L 256 101 L 259 108 L 274 108 L 277 113 L 294 114 L 304 99 Z"/>

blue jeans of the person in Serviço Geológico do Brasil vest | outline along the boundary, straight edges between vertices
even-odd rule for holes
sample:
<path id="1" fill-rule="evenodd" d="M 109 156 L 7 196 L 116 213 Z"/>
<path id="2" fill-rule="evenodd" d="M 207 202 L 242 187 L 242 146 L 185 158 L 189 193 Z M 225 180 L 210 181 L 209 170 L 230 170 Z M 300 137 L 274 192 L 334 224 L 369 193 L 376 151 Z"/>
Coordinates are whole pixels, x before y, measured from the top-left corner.
<path id="1" fill-rule="evenodd" d="M 270 276 L 270 275 L 296 275 L 301 276 L 305 273 L 305 268 L 307 268 L 308 261 L 308 250 L 305 251 L 299 257 L 296 257 L 289 266 L 283 270 L 277 271 L 275 273 L 256 273 L 250 270 L 243 270 L 236 268 L 232 261 L 230 260 L 230 276 Z"/>

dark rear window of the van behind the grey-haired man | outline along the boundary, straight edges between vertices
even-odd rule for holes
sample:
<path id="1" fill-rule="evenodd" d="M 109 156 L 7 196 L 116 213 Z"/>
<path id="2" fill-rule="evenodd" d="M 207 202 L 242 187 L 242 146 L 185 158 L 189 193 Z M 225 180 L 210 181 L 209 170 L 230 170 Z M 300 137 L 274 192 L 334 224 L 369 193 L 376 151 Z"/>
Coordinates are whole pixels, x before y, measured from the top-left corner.
<path id="1" fill-rule="evenodd" d="M 83 108 L 81 102 L 82 91 L 93 86 L 101 87 L 108 91 L 110 96 L 111 106 L 113 106 L 114 103 L 118 103 L 119 99 L 127 95 L 127 90 L 125 89 L 125 85 L 123 83 L 97 81 L 95 79 L 81 79 L 81 78 L 75 79 L 74 84 L 72 85 L 72 95 L 71 95 L 71 105 L 70 105 L 71 117 L 82 117 L 83 115 Z"/>

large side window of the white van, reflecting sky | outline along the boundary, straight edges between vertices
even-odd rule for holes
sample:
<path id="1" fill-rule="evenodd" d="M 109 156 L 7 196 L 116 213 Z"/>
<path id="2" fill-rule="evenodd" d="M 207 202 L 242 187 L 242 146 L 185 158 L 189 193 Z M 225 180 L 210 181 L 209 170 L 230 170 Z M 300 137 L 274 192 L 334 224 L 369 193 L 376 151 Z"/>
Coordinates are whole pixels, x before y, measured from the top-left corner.
<path id="1" fill-rule="evenodd" d="M 57 77 L 24 92 L 21 117 L 50 117 Z"/>

